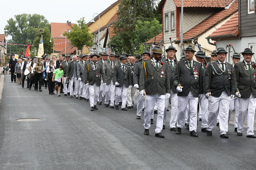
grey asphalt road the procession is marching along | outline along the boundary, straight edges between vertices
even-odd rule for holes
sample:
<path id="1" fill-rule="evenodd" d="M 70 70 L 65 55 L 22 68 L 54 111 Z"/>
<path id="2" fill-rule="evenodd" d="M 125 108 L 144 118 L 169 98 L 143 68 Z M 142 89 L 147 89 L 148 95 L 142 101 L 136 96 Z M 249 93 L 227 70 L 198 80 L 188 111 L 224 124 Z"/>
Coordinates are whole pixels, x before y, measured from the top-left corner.
<path id="1" fill-rule="evenodd" d="M 0 169 L 255 169 L 256 139 L 237 136 L 229 124 L 228 139 L 201 132 L 199 137 L 170 131 L 169 122 L 149 136 L 135 107 L 127 112 L 98 106 L 62 94 L 28 90 L 4 77 L 0 109 Z M 16 121 L 40 118 L 40 121 Z M 170 112 L 167 121 L 170 120 Z"/>

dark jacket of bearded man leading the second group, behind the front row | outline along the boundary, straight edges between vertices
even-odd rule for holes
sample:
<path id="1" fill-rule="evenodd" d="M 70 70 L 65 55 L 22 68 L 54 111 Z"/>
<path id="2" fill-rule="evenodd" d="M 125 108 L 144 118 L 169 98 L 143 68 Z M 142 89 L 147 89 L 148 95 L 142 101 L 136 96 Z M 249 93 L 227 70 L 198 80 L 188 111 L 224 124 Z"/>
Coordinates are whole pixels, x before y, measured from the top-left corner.
<path id="1" fill-rule="evenodd" d="M 93 62 L 86 65 L 84 74 L 85 84 L 89 83 L 92 86 L 96 83 L 97 86 L 100 86 L 101 78 L 103 79 L 103 83 L 106 83 L 106 76 L 102 64 L 97 62 L 96 69 L 94 69 Z"/>

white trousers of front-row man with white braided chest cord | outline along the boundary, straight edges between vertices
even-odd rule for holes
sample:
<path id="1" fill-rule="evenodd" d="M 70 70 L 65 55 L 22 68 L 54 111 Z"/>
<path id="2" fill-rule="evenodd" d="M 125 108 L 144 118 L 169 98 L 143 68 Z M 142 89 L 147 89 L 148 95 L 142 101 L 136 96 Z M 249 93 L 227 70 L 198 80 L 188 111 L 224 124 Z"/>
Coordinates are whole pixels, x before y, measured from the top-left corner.
<path id="1" fill-rule="evenodd" d="M 209 115 L 206 129 L 212 131 L 214 128 L 217 116 L 219 115 L 219 129 L 220 134 L 226 134 L 228 132 L 228 105 L 230 102 L 230 96 L 227 91 L 223 91 L 219 97 L 211 96 L 211 100 L 208 101 Z"/>

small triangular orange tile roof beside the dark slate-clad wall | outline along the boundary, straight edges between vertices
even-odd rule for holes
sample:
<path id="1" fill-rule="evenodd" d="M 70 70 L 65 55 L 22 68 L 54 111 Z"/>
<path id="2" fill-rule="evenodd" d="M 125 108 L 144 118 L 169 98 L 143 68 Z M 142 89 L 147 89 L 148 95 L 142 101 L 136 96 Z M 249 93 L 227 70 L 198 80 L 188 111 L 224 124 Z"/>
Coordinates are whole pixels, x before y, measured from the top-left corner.
<path id="1" fill-rule="evenodd" d="M 218 28 L 208 37 L 223 36 L 230 34 L 234 34 L 234 36 L 237 36 L 238 33 L 238 13 L 236 13 L 232 18 L 230 18 L 225 24 L 223 24 L 220 28 Z"/>

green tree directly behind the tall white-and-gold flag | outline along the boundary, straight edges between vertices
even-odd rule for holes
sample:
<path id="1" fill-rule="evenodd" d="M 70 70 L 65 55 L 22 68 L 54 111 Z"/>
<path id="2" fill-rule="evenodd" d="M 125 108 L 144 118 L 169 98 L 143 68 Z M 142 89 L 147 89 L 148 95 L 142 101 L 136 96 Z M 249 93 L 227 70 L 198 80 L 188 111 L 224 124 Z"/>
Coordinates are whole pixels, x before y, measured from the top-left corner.
<path id="1" fill-rule="evenodd" d="M 37 29 L 39 30 L 39 28 Z M 50 33 L 50 29 L 48 27 L 44 27 L 43 28 L 43 51 L 44 54 L 51 54 L 53 52 L 53 42 L 50 43 L 50 39 L 51 39 L 51 33 Z M 36 48 L 36 50 L 38 50 L 38 46 L 39 46 L 39 41 L 40 41 L 40 36 L 38 35 L 38 31 L 36 33 L 36 38 L 33 40 L 33 45 Z M 30 54 L 32 53 L 32 50 L 30 51 Z M 37 55 L 37 52 L 36 52 Z"/>

